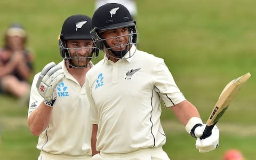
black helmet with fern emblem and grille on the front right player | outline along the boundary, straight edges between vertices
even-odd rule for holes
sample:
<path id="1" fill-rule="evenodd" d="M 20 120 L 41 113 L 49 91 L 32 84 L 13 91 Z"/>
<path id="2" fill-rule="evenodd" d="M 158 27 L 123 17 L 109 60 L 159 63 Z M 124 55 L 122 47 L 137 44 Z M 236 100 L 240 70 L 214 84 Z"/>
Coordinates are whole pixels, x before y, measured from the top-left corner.
<path id="1" fill-rule="evenodd" d="M 93 28 L 90 31 L 90 34 L 97 48 L 105 52 L 106 54 L 108 54 L 108 50 L 110 50 L 112 53 L 115 54 L 116 57 L 114 58 L 124 59 L 123 56 L 127 53 L 127 51 L 130 51 L 130 47 L 132 46 L 132 44 L 134 44 L 135 46 L 137 44 L 136 22 L 135 20 L 132 20 L 131 14 L 126 9 L 126 7 L 121 4 L 107 3 L 105 5 L 100 6 L 93 14 L 92 27 Z M 113 51 L 112 49 L 114 47 L 110 47 L 106 43 L 107 39 L 103 39 L 100 34 L 106 30 L 113 30 L 117 28 L 126 27 L 129 29 L 129 34 L 122 36 L 129 36 L 128 44 L 121 45 L 119 43 L 118 37 L 121 36 L 111 37 L 111 39 L 116 38 L 119 43 L 119 46 L 115 47 L 122 48 L 122 46 L 126 45 L 126 49 L 123 51 Z M 132 57 L 133 54 L 134 53 L 130 53 L 130 57 Z"/>

